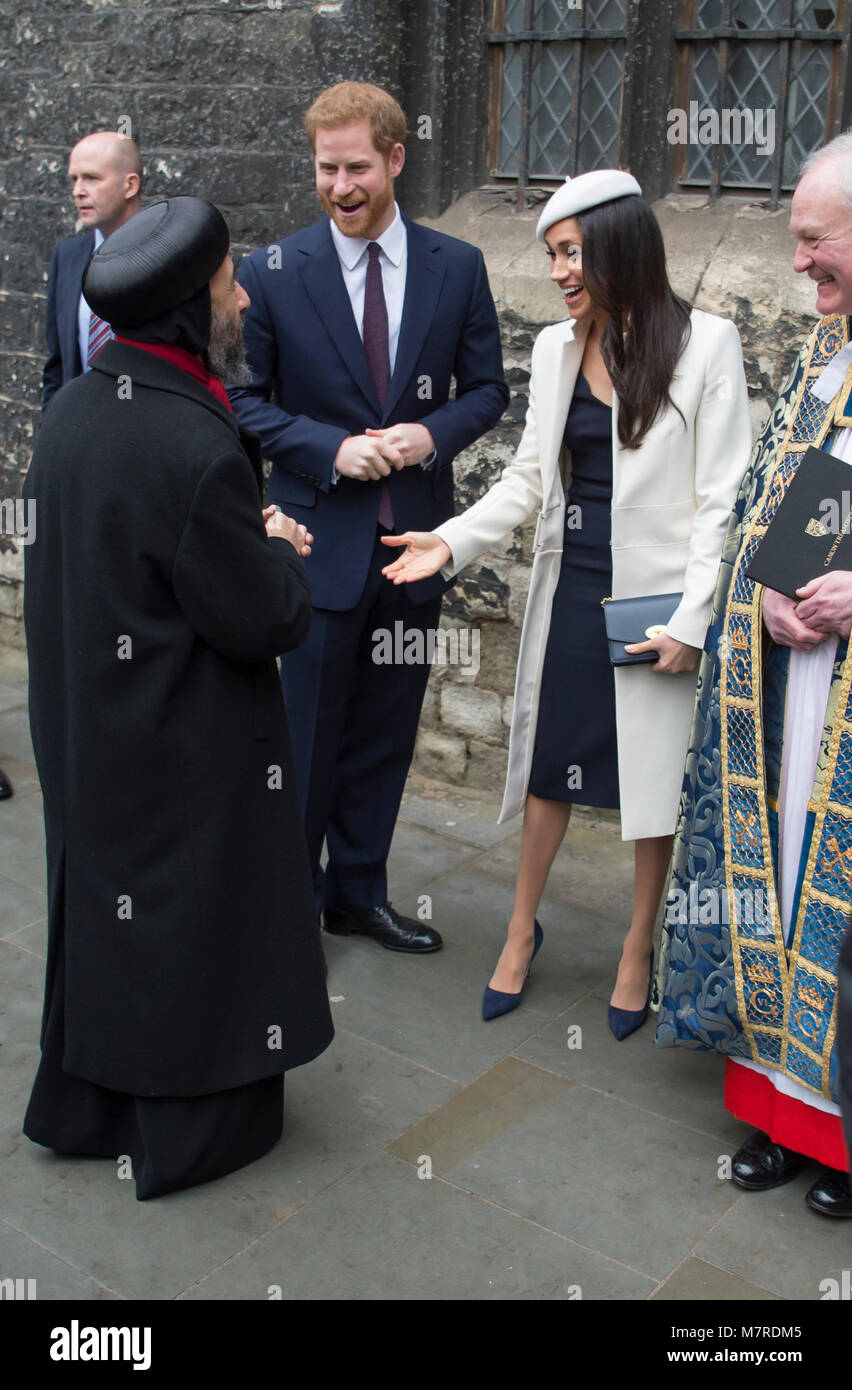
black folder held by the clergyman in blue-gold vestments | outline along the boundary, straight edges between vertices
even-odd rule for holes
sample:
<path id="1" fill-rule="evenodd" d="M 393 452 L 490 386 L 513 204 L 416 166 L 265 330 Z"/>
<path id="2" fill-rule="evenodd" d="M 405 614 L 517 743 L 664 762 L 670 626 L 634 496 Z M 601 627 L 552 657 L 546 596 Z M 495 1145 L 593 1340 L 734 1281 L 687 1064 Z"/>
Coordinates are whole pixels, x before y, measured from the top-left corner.
<path id="1" fill-rule="evenodd" d="M 746 574 L 767 589 L 796 589 L 833 570 L 852 570 L 852 464 L 808 449 Z"/>

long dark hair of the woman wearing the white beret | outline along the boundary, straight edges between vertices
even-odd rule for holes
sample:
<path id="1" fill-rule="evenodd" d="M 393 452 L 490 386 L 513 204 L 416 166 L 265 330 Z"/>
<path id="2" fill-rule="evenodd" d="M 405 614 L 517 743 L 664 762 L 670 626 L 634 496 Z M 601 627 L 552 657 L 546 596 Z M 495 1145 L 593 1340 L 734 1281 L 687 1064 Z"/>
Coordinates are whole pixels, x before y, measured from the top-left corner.
<path id="1" fill-rule="evenodd" d="M 660 411 L 674 404 L 669 389 L 689 336 L 689 306 L 669 284 L 663 236 L 645 199 L 616 197 L 578 213 L 577 221 L 585 289 L 610 316 L 600 353 L 618 398 L 618 439 L 638 449 Z"/>

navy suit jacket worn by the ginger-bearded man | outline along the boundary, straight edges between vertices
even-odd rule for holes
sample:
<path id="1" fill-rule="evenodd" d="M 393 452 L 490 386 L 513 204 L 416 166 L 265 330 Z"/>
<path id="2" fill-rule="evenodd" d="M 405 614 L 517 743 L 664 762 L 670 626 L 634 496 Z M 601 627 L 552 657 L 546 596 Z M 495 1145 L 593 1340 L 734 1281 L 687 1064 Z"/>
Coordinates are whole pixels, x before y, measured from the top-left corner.
<path id="1" fill-rule="evenodd" d="M 386 481 L 395 530 L 432 531 L 453 514 L 453 459 L 496 424 L 509 400 L 482 253 L 407 217 L 404 224 L 406 293 L 384 411 L 328 217 L 254 252 L 239 270 L 252 299 L 243 339 L 253 382 L 229 396 L 272 463 L 270 500 L 314 535 L 306 569 L 322 609 L 359 602 L 378 523 L 378 482 L 332 482 L 343 439 L 395 423 L 428 427 L 434 464 L 393 470 Z M 446 587 L 434 575 L 407 592 L 423 602 Z"/>

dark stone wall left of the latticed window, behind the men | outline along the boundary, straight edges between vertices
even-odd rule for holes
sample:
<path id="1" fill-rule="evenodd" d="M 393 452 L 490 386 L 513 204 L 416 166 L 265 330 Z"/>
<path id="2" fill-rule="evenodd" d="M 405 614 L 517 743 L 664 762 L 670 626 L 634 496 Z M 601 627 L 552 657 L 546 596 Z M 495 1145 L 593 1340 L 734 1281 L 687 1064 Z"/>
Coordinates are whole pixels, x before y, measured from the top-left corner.
<path id="1" fill-rule="evenodd" d="M 32 455 L 47 267 L 75 229 L 75 140 L 124 117 L 146 197 L 210 197 L 239 257 L 318 213 L 303 126 L 314 96 L 378 82 L 413 129 L 400 199 L 438 214 L 482 177 L 484 33 L 481 0 L 0 0 L 0 505 L 19 495 Z M 0 641 L 19 645 L 11 530 L 0 524 Z"/>

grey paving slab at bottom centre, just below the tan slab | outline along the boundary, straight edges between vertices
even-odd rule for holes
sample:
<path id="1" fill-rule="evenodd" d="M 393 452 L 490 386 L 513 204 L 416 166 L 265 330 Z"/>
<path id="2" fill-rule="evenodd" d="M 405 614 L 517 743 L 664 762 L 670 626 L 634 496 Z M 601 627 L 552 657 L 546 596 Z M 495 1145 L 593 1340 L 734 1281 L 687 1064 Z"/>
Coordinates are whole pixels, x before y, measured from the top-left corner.
<path id="1" fill-rule="evenodd" d="M 560 1301 L 645 1298 L 653 1284 L 614 1261 L 441 1179 L 379 1155 L 329 1187 L 192 1300 Z"/>

